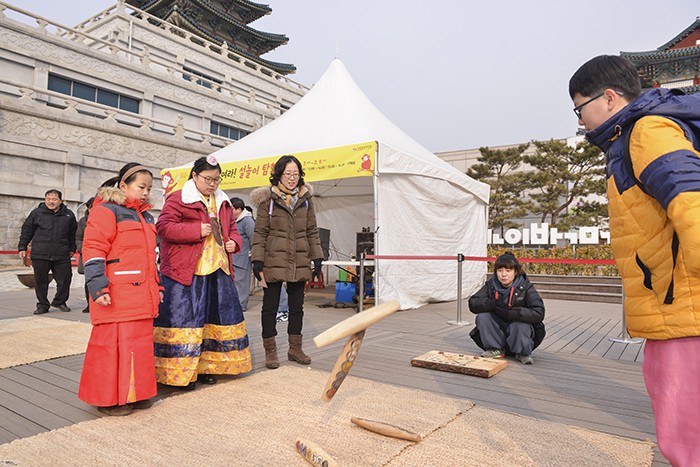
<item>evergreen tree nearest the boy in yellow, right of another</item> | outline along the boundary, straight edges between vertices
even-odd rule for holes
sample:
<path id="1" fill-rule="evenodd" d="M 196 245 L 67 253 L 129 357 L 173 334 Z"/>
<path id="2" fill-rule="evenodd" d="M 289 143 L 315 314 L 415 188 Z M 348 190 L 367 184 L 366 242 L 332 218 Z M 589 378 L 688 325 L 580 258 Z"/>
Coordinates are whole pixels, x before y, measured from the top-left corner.
<path id="1" fill-rule="evenodd" d="M 600 217 L 605 205 L 585 198 L 605 194 L 603 153 L 587 141 L 575 148 L 553 139 L 533 144 L 535 153 L 523 157 L 536 169 L 527 173 L 528 195 L 533 201 L 531 212 L 539 215 L 541 222 L 549 221 L 561 229 L 590 225 L 594 217 Z M 579 201 L 579 205 L 566 218 L 566 210 L 574 201 Z"/>

